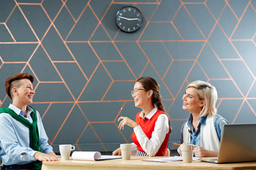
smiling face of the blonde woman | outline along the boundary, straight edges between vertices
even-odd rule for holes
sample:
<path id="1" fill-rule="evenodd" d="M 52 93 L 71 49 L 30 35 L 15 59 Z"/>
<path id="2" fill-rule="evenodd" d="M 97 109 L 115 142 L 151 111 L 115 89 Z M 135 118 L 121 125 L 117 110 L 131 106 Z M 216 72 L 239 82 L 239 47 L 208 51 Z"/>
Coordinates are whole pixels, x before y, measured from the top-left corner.
<path id="1" fill-rule="evenodd" d="M 204 100 L 199 98 L 198 89 L 195 87 L 187 88 L 185 94 L 182 97 L 182 100 L 182 109 L 187 110 L 193 114 L 199 114 L 202 110 L 202 106 L 205 104 Z"/>

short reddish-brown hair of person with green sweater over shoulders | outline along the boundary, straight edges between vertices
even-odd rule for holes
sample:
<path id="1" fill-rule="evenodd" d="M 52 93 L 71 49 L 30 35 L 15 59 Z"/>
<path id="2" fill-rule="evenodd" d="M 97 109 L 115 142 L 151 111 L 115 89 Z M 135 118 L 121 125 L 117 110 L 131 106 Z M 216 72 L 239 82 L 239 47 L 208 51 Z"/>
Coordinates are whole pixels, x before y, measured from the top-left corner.
<path id="1" fill-rule="evenodd" d="M 34 82 L 34 77 L 28 73 L 18 72 L 18 73 L 16 73 L 16 75 L 10 76 L 10 78 L 6 79 L 6 81 L 5 81 L 5 91 L 10 98 L 11 98 L 10 89 L 12 89 L 14 87 L 14 82 L 16 82 L 16 80 L 20 80 L 20 79 L 29 79 L 31 81 L 31 83 Z M 19 86 L 16 86 L 16 87 L 19 87 Z"/>

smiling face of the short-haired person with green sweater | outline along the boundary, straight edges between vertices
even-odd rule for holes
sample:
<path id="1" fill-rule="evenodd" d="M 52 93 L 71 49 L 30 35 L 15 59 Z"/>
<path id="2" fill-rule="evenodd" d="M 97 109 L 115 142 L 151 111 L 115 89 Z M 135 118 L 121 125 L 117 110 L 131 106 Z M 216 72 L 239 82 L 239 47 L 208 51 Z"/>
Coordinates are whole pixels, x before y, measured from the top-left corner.
<path id="1" fill-rule="evenodd" d="M 21 85 L 13 88 L 14 98 L 18 99 L 19 103 L 27 105 L 33 103 L 35 94 L 34 87 L 29 79 L 20 79 Z"/>

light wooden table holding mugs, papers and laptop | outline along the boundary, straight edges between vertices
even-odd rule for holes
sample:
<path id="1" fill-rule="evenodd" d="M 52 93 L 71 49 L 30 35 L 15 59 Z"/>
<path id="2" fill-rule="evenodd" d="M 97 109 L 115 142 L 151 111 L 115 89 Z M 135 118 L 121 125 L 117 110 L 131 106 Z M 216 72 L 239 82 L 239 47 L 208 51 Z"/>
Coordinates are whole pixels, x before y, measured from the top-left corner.
<path id="1" fill-rule="evenodd" d="M 193 161 L 192 163 L 183 163 L 182 161 L 174 162 L 152 162 L 143 161 L 149 159 L 158 159 L 161 157 L 140 157 L 131 156 L 131 160 L 123 161 L 122 159 L 108 160 L 108 161 L 43 161 L 42 170 L 74 170 L 74 169 L 256 169 L 256 162 L 241 162 L 241 163 L 227 163 L 214 164 L 202 161 Z"/>

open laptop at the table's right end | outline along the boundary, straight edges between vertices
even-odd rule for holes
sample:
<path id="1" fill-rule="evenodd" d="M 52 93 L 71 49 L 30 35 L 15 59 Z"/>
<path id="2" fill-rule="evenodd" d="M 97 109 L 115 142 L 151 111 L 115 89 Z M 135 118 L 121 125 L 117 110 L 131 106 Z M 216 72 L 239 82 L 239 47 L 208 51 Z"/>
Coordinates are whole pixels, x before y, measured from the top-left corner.
<path id="1" fill-rule="evenodd" d="M 201 161 L 214 163 L 256 161 L 255 132 L 256 123 L 224 125 L 218 158 L 202 158 Z"/>

